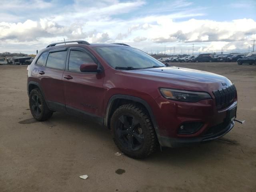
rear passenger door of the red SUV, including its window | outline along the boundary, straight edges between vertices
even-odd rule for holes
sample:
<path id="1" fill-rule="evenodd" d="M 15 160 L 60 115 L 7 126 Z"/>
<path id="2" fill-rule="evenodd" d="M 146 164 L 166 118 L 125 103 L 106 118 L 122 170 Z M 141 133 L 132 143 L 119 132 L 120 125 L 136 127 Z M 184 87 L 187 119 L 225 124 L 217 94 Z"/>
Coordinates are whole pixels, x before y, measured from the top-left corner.
<path id="1" fill-rule="evenodd" d="M 50 50 L 44 66 L 38 72 L 45 100 L 52 110 L 66 110 L 62 75 L 65 69 L 67 52 L 67 48 Z"/>

